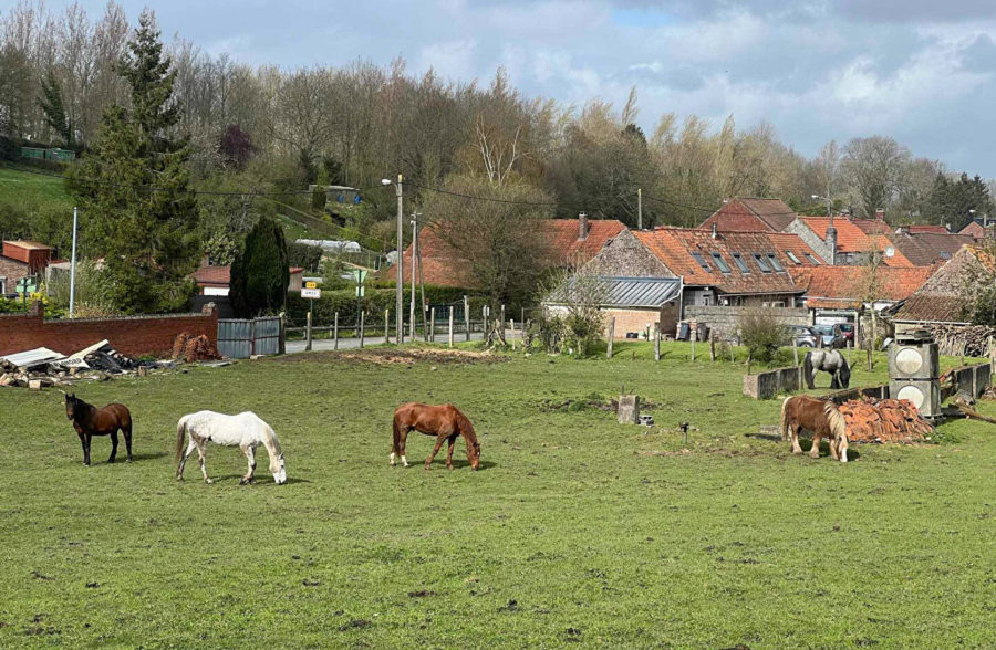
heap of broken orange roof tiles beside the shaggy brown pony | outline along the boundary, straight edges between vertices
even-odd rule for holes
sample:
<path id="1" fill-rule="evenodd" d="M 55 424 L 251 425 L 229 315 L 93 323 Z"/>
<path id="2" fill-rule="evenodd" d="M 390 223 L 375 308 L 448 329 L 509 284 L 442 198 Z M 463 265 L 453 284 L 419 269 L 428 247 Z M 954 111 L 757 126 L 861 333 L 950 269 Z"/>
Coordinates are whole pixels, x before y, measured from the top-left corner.
<path id="1" fill-rule="evenodd" d="M 905 399 L 850 400 L 840 406 L 852 442 L 919 442 L 934 428 Z"/>

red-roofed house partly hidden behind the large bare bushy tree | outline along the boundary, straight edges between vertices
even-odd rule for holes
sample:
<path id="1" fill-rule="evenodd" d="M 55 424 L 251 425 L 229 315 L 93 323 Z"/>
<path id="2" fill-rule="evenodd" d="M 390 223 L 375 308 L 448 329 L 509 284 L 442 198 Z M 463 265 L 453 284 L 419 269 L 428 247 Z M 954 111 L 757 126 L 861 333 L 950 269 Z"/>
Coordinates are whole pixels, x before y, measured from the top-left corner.
<path id="1" fill-rule="evenodd" d="M 606 242 L 626 230 L 615 219 L 542 219 L 537 221 L 540 240 L 547 250 L 544 266 L 577 268 L 593 258 Z M 412 281 L 412 245 L 405 249 L 402 273 Z M 418 233 L 418 260 L 422 266 L 416 280 L 436 286 L 477 289 L 469 261 L 447 243 L 439 231 L 426 226 Z M 385 280 L 394 279 L 394 268 L 382 270 Z"/>

